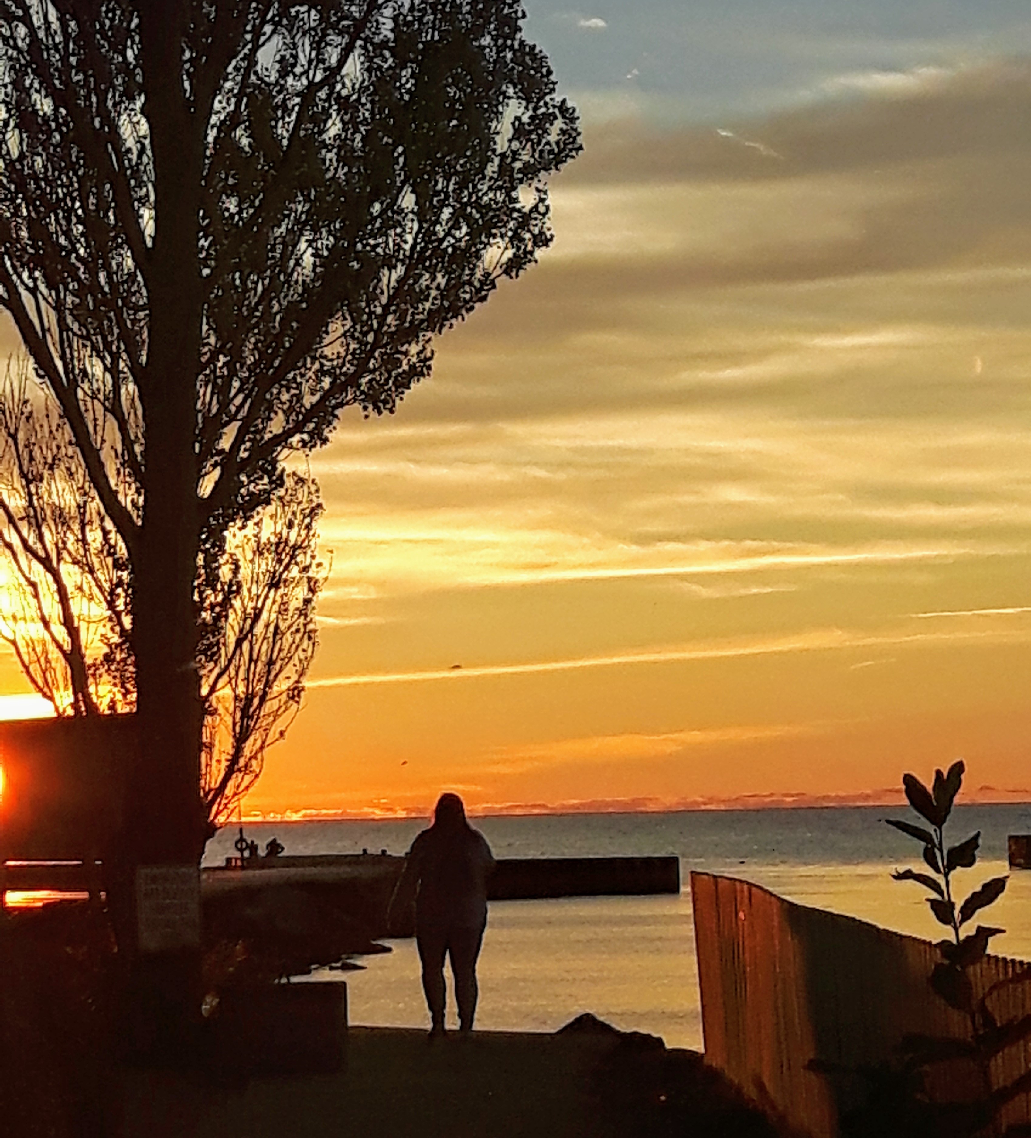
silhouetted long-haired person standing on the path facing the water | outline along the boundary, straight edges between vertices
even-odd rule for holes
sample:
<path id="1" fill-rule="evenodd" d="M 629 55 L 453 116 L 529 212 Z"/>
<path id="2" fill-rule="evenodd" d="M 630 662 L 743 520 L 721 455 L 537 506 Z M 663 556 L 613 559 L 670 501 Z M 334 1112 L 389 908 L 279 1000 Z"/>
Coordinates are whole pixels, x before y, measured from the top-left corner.
<path id="1" fill-rule="evenodd" d="M 463 1031 L 476 1016 L 476 957 L 487 926 L 487 879 L 494 858 L 487 839 L 466 822 L 457 794 L 441 794 L 433 825 L 411 843 L 390 902 L 404 913 L 415 894 L 415 939 L 431 1036 L 444 1030 L 444 957 L 451 958 L 455 1001 Z M 392 923 L 392 922 L 391 922 Z"/>

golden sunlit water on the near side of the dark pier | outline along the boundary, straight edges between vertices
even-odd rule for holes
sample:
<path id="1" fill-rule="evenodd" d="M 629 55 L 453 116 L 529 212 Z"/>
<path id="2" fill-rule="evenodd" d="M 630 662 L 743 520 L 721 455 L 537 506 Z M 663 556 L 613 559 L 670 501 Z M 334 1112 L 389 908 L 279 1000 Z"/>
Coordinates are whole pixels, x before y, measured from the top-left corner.
<path id="1" fill-rule="evenodd" d="M 726 872 L 731 872 L 726 867 Z M 966 896 L 1004 861 L 957 874 Z M 884 863 L 735 866 L 733 876 L 797 901 L 859 917 L 897 932 L 941 939 L 920 887 L 895 882 Z M 1031 873 L 1016 872 L 988 923 L 1006 929 L 999 955 L 1031 958 Z M 351 1022 L 423 1026 L 425 1008 L 414 943 L 366 958 L 348 974 Z M 554 1031 L 580 1012 L 630 1031 L 662 1036 L 671 1047 L 701 1048 L 690 894 L 494 901 L 480 965 L 484 1029 Z"/>

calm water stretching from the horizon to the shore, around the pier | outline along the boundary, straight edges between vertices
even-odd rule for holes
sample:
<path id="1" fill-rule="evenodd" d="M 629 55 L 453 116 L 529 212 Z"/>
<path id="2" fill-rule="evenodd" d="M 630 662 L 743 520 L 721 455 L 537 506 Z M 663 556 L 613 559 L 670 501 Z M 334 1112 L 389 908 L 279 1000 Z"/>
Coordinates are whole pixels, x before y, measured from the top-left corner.
<path id="1" fill-rule="evenodd" d="M 939 939 L 941 926 L 912 882 L 892 868 L 917 866 L 918 846 L 884 825 L 906 809 L 684 811 L 549 815 L 473 819 L 497 857 L 617 857 L 675 853 L 680 897 L 601 897 L 494 901 L 480 963 L 477 1024 L 554 1031 L 581 1012 L 618 1028 L 662 1036 L 671 1047 L 701 1047 L 698 978 L 688 875 L 732 874 L 804 905 L 833 909 L 900 932 Z M 273 834 L 288 853 L 402 853 L 425 823 L 294 822 L 247 827 L 260 844 Z M 981 831 L 981 860 L 959 874 L 965 894 L 1006 873 L 1006 835 L 1031 833 L 1031 805 L 957 807 L 949 832 Z M 209 843 L 206 861 L 232 852 L 235 827 Z M 1016 871 L 991 923 L 1007 932 L 993 951 L 1031 958 L 1031 871 Z M 411 941 L 365 958 L 348 973 L 356 1024 L 422 1026 L 426 1021 Z M 339 976 L 339 973 L 333 973 Z M 454 1013 L 452 1013 L 454 1014 Z"/>

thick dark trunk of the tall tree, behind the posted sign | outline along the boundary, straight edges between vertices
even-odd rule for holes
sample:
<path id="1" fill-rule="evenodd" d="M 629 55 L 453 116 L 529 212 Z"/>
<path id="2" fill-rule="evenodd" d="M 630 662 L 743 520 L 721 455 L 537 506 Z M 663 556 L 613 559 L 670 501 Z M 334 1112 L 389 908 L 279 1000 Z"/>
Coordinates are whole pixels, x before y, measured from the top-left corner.
<path id="1" fill-rule="evenodd" d="M 153 239 L 145 270 L 150 322 L 140 394 L 144 420 L 143 518 L 133 551 L 133 651 L 139 754 L 125 803 L 119 871 L 128 953 L 130 1046 L 155 1058 L 190 1058 L 200 1014 L 200 947 L 145 950 L 136 912 L 141 869 L 189 877 L 207 839 L 200 798 L 202 707 L 196 668 L 194 578 L 200 545 L 194 445 L 201 341 L 198 270 L 203 124 L 193 121 L 182 74 L 177 0 L 140 8 L 141 60 L 153 155 Z M 197 905 L 199 906 L 199 881 Z M 131 892 L 130 892 L 131 891 Z M 127 902 L 127 904 L 126 904 Z M 144 906 L 145 908 L 145 906 Z M 126 912 L 127 910 L 127 912 Z M 119 949 L 122 946 L 119 945 Z"/>

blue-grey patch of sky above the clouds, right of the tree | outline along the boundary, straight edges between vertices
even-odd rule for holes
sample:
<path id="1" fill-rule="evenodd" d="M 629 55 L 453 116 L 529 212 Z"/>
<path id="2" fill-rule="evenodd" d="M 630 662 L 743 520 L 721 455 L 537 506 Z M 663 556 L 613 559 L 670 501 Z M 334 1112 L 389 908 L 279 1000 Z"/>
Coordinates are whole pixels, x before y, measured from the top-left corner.
<path id="1" fill-rule="evenodd" d="M 564 91 L 625 96 L 660 117 L 762 113 L 818 98 L 841 75 L 1031 53 L 1028 0 L 525 5 Z"/>

